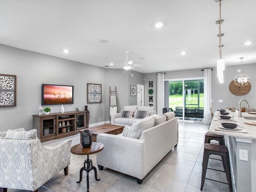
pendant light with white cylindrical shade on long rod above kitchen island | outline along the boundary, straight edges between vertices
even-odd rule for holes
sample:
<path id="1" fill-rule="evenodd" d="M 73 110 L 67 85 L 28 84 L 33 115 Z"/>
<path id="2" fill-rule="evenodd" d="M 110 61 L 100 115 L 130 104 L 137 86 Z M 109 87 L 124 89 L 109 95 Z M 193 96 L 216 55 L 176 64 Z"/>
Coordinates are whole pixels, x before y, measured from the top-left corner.
<path id="1" fill-rule="evenodd" d="M 223 33 L 221 33 L 221 24 L 224 22 L 224 20 L 221 19 L 221 1 L 222 0 L 215 0 L 216 2 L 220 2 L 220 20 L 217 20 L 215 23 L 219 25 L 219 54 L 220 58 L 217 60 L 217 77 L 219 80 L 219 83 L 224 83 L 224 76 L 223 71 L 225 70 L 225 60 L 222 58 L 221 48 L 223 45 L 221 44 L 221 37 L 224 36 Z"/>

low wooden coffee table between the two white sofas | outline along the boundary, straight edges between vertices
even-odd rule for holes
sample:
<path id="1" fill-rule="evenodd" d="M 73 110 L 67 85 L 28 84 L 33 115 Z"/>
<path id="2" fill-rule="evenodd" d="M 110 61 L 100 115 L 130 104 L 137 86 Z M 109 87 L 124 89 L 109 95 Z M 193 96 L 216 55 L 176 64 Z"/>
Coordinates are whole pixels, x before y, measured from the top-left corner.
<path id="1" fill-rule="evenodd" d="M 124 129 L 124 126 L 108 124 L 108 125 L 102 125 L 102 126 L 98 126 L 98 127 L 89 128 L 88 130 L 90 130 L 90 132 L 92 132 L 92 142 L 96 142 L 96 137 L 98 134 L 108 133 L 108 134 L 118 135 L 123 132 L 123 129 Z M 84 129 L 79 130 L 80 142 L 82 140 L 83 130 Z"/>

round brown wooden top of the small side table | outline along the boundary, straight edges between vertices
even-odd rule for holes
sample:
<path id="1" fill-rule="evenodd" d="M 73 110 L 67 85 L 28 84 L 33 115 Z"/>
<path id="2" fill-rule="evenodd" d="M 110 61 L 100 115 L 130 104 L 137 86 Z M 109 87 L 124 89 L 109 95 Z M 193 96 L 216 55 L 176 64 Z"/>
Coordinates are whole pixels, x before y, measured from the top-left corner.
<path id="1" fill-rule="evenodd" d="M 90 155 L 102 151 L 104 145 L 99 142 L 92 142 L 92 145 L 88 148 L 84 148 L 82 144 L 77 144 L 71 147 L 71 153 L 76 155 Z"/>

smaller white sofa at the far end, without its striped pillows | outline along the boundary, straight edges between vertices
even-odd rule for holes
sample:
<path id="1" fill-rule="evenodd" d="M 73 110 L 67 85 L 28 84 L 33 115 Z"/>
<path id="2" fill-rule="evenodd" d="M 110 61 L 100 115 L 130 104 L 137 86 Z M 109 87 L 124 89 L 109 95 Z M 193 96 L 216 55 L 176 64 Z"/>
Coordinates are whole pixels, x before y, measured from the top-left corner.
<path id="1" fill-rule="evenodd" d="M 110 124 L 117 124 L 117 125 L 132 125 L 132 123 L 136 120 L 140 120 L 140 118 L 135 118 L 137 111 L 148 111 L 149 115 L 152 116 L 154 112 L 154 107 L 150 106 L 138 106 L 138 105 L 132 105 L 132 106 L 124 106 L 124 109 L 121 111 L 121 113 L 117 113 L 111 116 L 110 118 Z M 129 111 L 132 112 L 131 117 L 121 117 L 123 111 Z"/>

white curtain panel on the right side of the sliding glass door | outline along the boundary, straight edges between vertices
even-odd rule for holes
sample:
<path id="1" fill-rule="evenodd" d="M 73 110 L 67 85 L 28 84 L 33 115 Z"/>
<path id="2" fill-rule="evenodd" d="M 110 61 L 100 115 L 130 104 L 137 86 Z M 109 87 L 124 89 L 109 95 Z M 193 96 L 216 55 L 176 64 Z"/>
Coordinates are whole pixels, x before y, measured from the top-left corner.
<path id="1" fill-rule="evenodd" d="M 204 70 L 204 124 L 210 124 L 212 115 L 210 112 L 212 107 L 212 70 Z"/>

